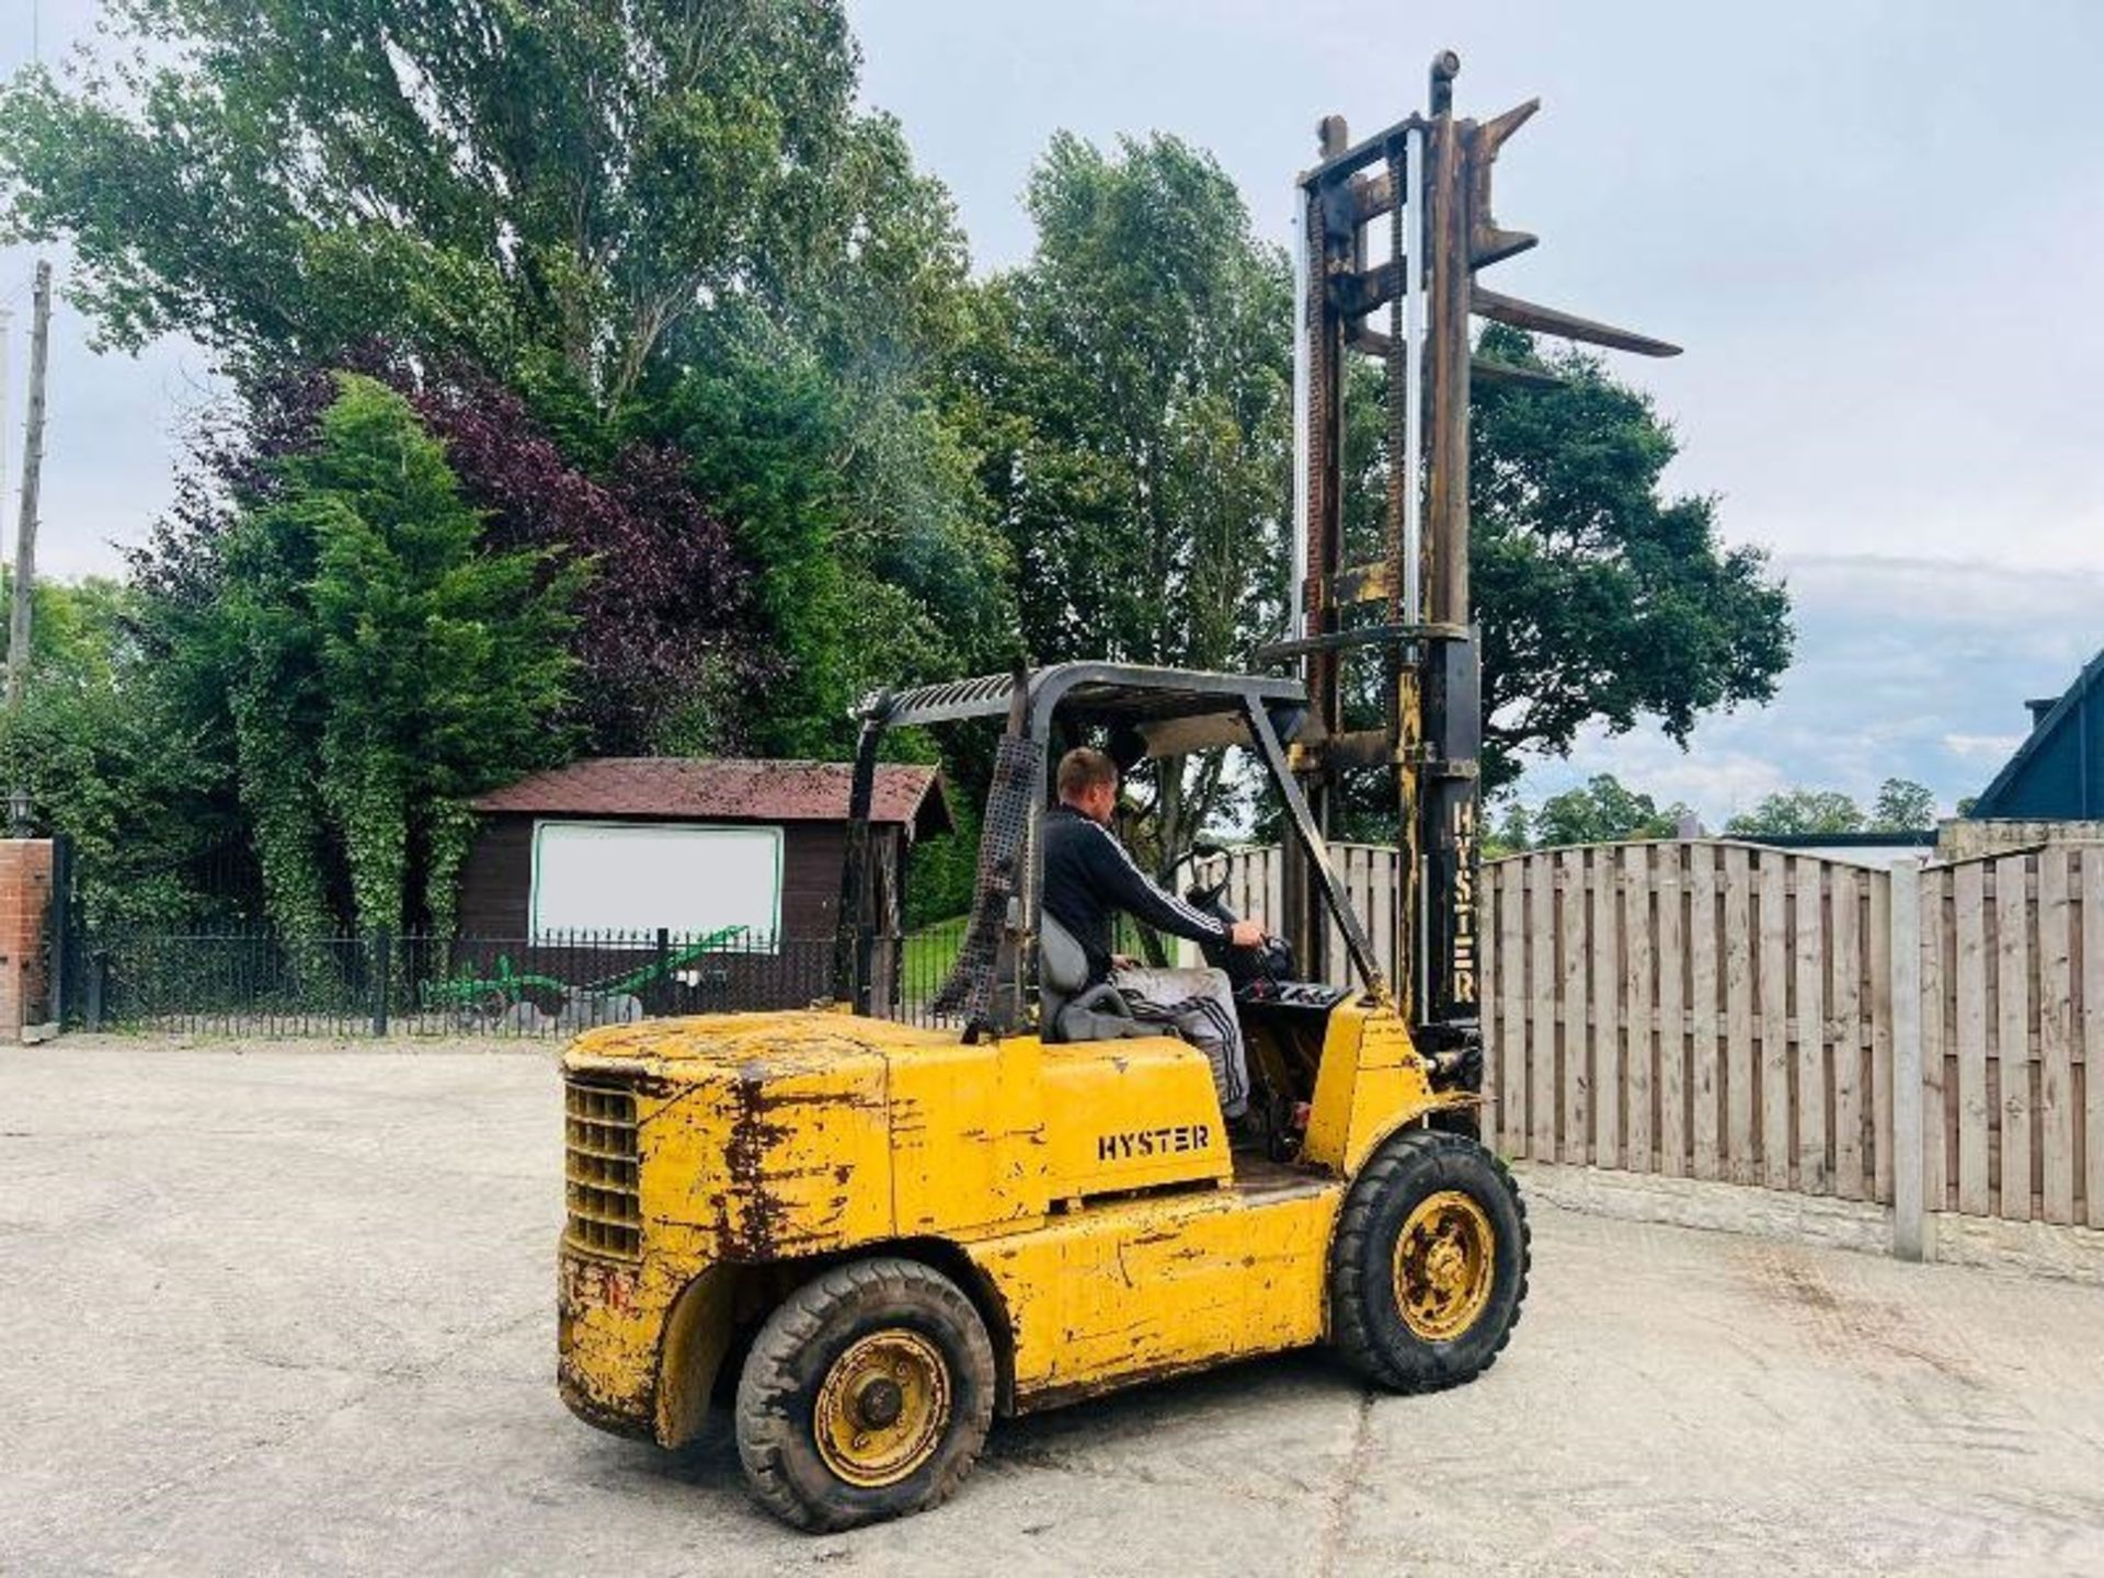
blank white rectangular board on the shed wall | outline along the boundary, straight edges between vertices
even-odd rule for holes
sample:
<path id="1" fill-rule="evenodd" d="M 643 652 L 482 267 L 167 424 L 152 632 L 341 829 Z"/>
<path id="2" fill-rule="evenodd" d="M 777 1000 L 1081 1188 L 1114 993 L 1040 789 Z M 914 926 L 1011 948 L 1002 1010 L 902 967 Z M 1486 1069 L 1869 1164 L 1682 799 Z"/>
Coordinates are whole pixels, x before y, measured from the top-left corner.
<path id="1" fill-rule="evenodd" d="M 532 932 L 747 928 L 772 947 L 783 913 L 783 831 L 701 823 L 534 823 Z"/>

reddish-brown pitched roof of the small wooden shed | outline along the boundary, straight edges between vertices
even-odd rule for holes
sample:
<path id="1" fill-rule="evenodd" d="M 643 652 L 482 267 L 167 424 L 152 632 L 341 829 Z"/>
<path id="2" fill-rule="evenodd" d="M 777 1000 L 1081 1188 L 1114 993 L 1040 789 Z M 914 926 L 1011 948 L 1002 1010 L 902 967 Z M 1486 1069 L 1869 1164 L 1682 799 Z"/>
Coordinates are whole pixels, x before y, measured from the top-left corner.
<path id="1" fill-rule="evenodd" d="M 745 762 L 694 755 L 604 755 L 537 772 L 476 800 L 480 812 L 648 816 L 703 823 L 844 823 L 854 768 L 846 762 Z M 951 827 L 934 768 L 879 766 L 869 816 Z"/>

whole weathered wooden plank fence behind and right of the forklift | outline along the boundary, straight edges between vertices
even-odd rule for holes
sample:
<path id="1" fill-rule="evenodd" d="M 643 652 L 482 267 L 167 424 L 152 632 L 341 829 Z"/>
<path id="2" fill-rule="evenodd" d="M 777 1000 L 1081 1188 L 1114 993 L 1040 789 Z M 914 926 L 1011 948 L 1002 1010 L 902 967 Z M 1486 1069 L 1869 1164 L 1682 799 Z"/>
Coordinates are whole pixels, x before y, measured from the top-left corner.
<path id="1" fill-rule="evenodd" d="M 1393 861 L 1340 861 L 1389 968 Z M 1231 867 L 1279 913 L 1275 850 Z M 1902 1241 L 1923 1212 L 2104 1227 L 2104 848 L 1544 850 L 1485 867 L 1481 934 L 1509 1155 L 1894 1203 Z"/>

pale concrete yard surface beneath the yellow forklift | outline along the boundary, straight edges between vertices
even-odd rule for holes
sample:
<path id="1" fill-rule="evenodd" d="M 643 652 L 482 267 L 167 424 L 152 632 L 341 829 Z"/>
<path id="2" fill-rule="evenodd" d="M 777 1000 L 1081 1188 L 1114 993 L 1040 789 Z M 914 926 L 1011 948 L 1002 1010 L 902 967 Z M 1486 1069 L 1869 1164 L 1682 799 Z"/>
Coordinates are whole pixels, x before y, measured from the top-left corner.
<path id="1" fill-rule="evenodd" d="M 0 1570 L 2104 1572 L 2104 1294 L 1538 1210 L 1504 1359 L 997 1424 L 791 1534 L 553 1391 L 553 1050 L 0 1050 Z"/>

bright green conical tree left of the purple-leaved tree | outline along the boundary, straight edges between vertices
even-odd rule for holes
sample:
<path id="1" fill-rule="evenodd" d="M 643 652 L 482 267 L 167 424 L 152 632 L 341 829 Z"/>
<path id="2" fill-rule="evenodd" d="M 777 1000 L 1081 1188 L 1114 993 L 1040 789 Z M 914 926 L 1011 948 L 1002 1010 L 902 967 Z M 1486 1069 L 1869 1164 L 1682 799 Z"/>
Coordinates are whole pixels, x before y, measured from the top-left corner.
<path id="1" fill-rule="evenodd" d="M 410 404 L 345 375 L 177 638 L 223 673 L 242 808 L 290 936 L 337 928 L 335 873 L 362 930 L 450 930 L 467 802 L 558 757 L 579 570 L 480 537 Z"/>

